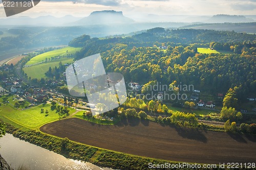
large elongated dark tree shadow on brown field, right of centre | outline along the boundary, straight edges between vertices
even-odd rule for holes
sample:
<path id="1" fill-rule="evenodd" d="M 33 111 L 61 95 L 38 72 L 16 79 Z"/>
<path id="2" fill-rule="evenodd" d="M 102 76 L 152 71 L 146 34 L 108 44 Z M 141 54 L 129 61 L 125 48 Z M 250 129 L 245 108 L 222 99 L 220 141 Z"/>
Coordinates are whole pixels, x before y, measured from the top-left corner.
<path id="1" fill-rule="evenodd" d="M 180 128 L 175 126 L 173 128 L 175 128 L 178 134 L 183 138 L 198 140 L 198 141 L 207 143 L 207 138 L 205 137 L 205 135 L 196 129 L 190 129 L 190 128 L 186 129 L 186 128 Z"/>

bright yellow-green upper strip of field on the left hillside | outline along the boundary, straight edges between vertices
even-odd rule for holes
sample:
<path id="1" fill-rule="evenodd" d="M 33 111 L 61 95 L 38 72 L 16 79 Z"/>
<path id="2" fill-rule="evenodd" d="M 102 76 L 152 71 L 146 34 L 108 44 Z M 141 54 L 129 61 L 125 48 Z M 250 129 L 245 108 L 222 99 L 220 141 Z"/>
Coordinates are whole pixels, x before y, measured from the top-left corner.
<path id="1" fill-rule="evenodd" d="M 45 61 L 46 58 L 50 59 L 52 57 L 57 57 L 57 56 L 67 57 L 68 55 L 74 54 L 75 52 L 78 52 L 80 50 L 81 50 L 81 48 L 75 48 L 75 47 L 70 47 L 70 46 L 65 47 L 65 48 L 60 48 L 58 50 L 54 50 L 54 51 L 50 51 L 50 52 L 47 52 L 44 54 L 37 55 L 37 56 L 33 57 L 31 60 L 29 60 L 26 63 L 26 65 L 36 64 L 36 63 Z M 67 51 L 68 51 L 68 53 L 67 53 Z"/>

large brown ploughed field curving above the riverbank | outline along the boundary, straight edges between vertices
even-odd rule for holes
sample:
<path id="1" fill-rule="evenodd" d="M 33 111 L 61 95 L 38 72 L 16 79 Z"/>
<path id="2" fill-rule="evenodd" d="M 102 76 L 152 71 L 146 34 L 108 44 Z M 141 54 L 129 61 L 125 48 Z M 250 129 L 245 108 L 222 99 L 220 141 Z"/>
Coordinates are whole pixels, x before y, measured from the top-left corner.
<path id="1" fill-rule="evenodd" d="M 182 129 L 139 120 L 116 126 L 98 125 L 78 118 L 50 123 L 40 130 L 99 148 L 164 160 L 256 162 L 256 136 Z"/>

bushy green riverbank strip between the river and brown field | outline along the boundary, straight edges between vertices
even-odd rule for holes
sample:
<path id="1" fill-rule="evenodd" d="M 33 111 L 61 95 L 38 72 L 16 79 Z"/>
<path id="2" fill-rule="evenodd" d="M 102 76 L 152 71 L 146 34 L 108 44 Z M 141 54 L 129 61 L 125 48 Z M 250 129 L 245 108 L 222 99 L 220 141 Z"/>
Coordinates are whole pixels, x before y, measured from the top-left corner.
<path id="1" fill-rule="evenodd" d="M 101 167 L 111 167 L 114 169 L 148 169 L 148 163 L 152 162 L 156 164 L 178 163 L 96 148 L 70 141 L 67 138 L 62 139 L 26 128 L 18 129 L 11 125 L 7 126 L 7 132 L 19 139 L 36 144 L 39 147 L 61 154 L 67 158 L 90 162 Z"/>

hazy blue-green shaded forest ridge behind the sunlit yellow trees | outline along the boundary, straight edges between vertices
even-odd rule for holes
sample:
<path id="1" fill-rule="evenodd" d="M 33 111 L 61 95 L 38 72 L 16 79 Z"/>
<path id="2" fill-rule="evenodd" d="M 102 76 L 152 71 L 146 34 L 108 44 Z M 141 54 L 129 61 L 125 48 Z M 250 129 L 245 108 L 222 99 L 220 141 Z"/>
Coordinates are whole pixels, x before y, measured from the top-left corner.
<path id="1" fill-rule="evenodd" d="M 88 37 L 88 36 L 86 36 Z M 97 44 L 106 43 L 125 43 L 129 46 L 153 46 L 153 43 L 158 42 L 173 42 L 181 44 L 191 43 L 238 43 L 244 41 L 254 41 L 256 39 L 255 34 L 236 33 L 234 31 L 215 31 L 215 30 L 194 30 L 194 29 L 177 29 L 177 30 L 164 30 L 163 28 L 154 28 L 147 30 L 141 34 L 137 34 L 129 37 L 114 37 L 107 39 L 90 39 L 89 37 L 83 39 L 81 37 L 72 40 L 70 46 L 84 46 L 90 42 L 96 42 Z M 89 42 L 89 41 L 90 42 Z M 87 42 L 86 42 L 87 41 Z"/>

